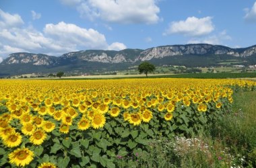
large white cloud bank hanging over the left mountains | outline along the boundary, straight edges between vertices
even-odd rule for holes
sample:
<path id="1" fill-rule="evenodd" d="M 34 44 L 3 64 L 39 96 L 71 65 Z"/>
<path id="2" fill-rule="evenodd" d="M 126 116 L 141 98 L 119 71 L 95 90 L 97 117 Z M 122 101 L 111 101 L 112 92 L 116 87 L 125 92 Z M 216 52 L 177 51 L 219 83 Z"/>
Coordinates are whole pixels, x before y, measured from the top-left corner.
<path id="1" fill-rule="evenodd" d="M 2 12 L 3 15 L 6 13 Z M 7 13 L 8 15 L 11 15 Z M 20 15 L 11 15 L 20 18 Z M 122 50 L 125 44 L 115 42 L 108 45 L 104 34 L 94 29 L 86 29 L 59 22 L 58 24 L 46 24 L 43 32 L 28 28 L 13 27 L 6 29 L 7 23 L 1 19 L 0 25 L 0 55 L 5 58 L 13 52 L 34 52 L 58 56 L 65 52 L 85 49 L 112 49 Z M 20 23 L 23 22 L 13 22 Z"/>

